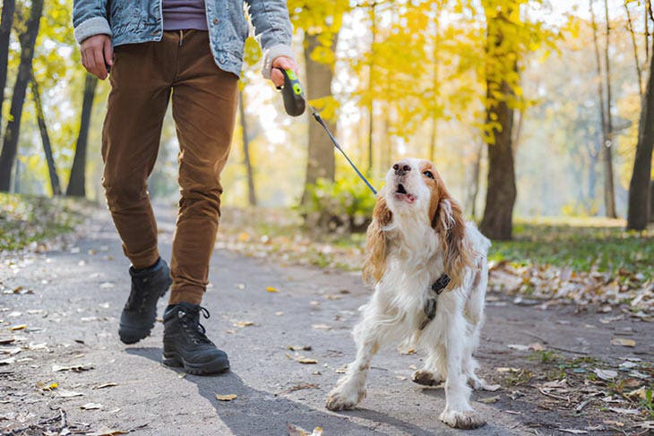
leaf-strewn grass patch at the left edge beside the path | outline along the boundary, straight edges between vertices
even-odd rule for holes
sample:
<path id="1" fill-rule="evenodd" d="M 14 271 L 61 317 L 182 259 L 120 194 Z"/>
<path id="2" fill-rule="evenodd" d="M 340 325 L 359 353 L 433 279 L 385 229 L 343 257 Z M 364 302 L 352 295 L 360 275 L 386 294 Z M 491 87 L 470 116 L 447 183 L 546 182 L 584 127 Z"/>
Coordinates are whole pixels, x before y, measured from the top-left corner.
<path id="1" fill-rule="evenodd" d="M 0 193 L 0 251 L 20 250 L 82 224 L 83 201 Z"/>

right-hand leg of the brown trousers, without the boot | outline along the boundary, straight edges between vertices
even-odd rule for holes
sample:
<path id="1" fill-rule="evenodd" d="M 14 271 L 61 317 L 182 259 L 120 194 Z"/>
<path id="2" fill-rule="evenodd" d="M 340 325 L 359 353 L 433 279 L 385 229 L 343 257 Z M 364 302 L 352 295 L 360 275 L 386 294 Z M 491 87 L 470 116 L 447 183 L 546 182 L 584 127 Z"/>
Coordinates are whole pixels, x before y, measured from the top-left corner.
<path id="1" fill-rule="evenodd" d="M 179 139 L 180 201 L 170 304 L 199 304 L 219 222 L 220 172 L 227 162 L 237 113 L 237 76 L 219 70 L 206 31 L 185 30 L 173 85 Z"/>

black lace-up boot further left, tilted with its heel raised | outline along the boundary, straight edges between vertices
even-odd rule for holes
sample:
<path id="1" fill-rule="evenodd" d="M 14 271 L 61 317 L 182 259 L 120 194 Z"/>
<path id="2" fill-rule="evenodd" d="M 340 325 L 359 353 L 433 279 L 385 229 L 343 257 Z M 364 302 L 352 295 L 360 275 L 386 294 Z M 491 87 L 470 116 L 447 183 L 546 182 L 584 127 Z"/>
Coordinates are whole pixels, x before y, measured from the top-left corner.
<path id="1" fill-rule="evenodd" d="M 125 344 L 135 344 L 147 338 L 157 319 L 157 301 L 172 284 L 170 270 L 165 261 L 146 269 L 129 269 L 132 291 L 120 314 L 118 335 Z"/>

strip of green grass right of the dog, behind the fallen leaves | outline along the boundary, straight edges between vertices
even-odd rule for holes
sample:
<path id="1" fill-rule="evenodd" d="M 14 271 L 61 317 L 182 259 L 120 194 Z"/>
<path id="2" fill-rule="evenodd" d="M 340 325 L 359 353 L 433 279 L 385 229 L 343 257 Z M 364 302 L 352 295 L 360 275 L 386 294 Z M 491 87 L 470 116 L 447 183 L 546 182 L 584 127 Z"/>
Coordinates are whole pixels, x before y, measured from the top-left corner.
<path id="1" fill-rule="evenodd" d="M 654 231 L 627 232 L 624 222 L 605 218 L 521 221 L 512 241 L 494 241 L 491 261 L 553 265 L 575 271 L 641 272 L 654 277 Z"/>

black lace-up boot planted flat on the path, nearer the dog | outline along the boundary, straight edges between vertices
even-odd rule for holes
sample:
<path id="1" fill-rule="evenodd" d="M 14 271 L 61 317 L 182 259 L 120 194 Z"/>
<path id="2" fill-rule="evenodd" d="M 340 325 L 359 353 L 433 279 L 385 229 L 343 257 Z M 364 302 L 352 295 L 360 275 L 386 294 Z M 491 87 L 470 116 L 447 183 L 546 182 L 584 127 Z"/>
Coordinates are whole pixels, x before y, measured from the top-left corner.
<path id="1" fill-rule="evenodd" d="M 229 369 L 227 354 L 219 350 L 205 335 L 200 313 L 209 318 L 209 311 L 199 304 L 169 305 L 164 313 L 163 363 L 183 366 L 189 374 L 217 374 Z"/>

